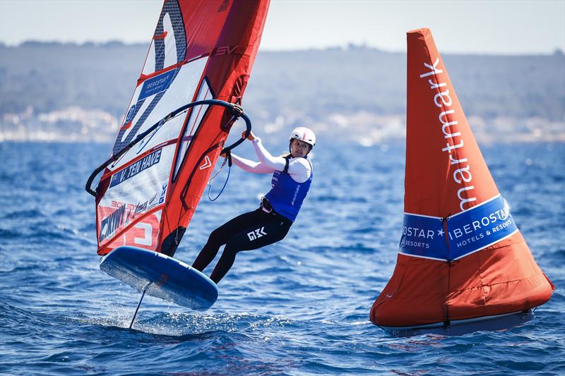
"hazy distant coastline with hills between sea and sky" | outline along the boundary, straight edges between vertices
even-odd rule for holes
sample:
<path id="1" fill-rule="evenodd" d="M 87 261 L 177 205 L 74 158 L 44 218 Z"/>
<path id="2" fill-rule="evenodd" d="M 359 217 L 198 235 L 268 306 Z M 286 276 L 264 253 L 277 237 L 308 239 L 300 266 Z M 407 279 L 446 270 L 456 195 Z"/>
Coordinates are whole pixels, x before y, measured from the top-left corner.
<path id="1" fill-rule="evenodd" d="M 0 141 L 112 142 L 147 48 L 120 41 L 0 43 Z M 308 124 L 365 146 L 400 139 L 405 59 L 355 44 L 260 50 L 244 108 L 273 138 Z M 444 60 L 477 140 L 565 142 L 562 51 Z"/>

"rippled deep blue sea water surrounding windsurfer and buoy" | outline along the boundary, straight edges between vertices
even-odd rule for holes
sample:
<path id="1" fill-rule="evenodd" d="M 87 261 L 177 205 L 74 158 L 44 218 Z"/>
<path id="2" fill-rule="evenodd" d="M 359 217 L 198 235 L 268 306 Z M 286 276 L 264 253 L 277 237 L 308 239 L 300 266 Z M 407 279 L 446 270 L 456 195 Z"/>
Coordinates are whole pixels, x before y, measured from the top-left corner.
<path id="1" fill-rule="evenodd" d="M 100 271 L 84 190 L 110 145 L 0 143 L 0 374 L 565 374 L 564 144 L 482 145 L 556 286 L 535 320 L 398 339 L 368 315 L 396 263 L 404 147 L 329 141 L 316 147 L 311 193 L 284 241 L 240 253 L 210 310 L 145 297 L 133 329 L 138 293 Z M 218 201 L 203 196 L 175 257 L 191 263 L 210 231 L 253 210 L 269 184 L 232 169 Z"/>

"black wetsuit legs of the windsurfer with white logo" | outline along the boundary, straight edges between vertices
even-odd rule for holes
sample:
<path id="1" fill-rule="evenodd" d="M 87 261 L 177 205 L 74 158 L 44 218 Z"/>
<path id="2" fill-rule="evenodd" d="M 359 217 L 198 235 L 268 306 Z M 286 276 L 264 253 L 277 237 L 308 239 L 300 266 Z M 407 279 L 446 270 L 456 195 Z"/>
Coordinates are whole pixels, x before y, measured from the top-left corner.
<path id="1" fill-rule="evenodd" d="M 263 199 L 262 205 L 268 207 L 265 210 L 272 210 L 266 199 Z M 290 230 L 292 221 L 274 211 L 265 210 L 262 206 L 253 212 L 241 214 L 212 231 L 192 267 L 202 272 L 225 244 L 218 265 L 210 275 L 210 279 L 218 283 L 232 267 L 239 251 L 254 250 L 282 240 Z"/>

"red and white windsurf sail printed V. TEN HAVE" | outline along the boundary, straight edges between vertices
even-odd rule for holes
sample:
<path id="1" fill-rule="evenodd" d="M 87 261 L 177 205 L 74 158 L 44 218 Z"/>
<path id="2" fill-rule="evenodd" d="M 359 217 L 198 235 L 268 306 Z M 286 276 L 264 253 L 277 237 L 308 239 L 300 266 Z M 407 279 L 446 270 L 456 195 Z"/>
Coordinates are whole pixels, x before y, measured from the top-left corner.
<path id="1" fill-rule="evenodd" d="M 112 154 L 191 102 L 241 104 L 268 5 L 165 0 Z M 172 255 L 231 125 L 225 107 L 191 107 L 107 166 L 96 197 L 98 253 L 132 245 Z"/>

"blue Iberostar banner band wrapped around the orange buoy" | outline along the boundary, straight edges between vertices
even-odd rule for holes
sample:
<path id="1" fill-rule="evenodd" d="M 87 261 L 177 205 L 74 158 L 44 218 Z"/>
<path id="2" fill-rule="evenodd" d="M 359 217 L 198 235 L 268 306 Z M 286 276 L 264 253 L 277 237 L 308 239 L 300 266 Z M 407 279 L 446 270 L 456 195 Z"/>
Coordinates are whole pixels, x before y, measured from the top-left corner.
<path id="1" fill-rule="evenodd" d="M 400 252 L 439 260 L 457 260 L 497 243 L 516 231 L 510 208 L 500 195 L 445 221 L 404 215 Z"/>

